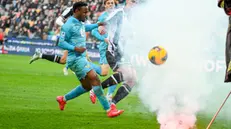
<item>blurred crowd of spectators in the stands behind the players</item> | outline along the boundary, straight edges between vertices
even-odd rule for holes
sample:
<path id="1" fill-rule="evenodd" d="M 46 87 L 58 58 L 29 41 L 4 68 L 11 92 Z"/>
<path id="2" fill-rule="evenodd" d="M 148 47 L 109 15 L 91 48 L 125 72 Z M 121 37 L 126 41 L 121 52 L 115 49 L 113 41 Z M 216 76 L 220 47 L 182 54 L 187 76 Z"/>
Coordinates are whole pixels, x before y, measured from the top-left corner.
<path id="1" fill-rule="evenodd" d="M 88 20 L 94 23 L 104 10 L 103 0 L 85 1 Z M 60 27 L 55 20 L 72 4 L 72 0 L 0 0 L 0 29 L 7 37 L 56 41 Z"/>

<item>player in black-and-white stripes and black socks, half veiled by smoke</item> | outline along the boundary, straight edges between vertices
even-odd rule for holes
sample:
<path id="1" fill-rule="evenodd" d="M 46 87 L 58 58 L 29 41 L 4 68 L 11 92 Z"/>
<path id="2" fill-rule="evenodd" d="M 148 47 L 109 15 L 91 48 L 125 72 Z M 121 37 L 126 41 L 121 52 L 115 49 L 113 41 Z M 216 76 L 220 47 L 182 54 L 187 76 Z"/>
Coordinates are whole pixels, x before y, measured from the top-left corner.
<path id="1" fill-rule="evenodd" d="M 124 8 L 114 10 L 113 13 L 111 13 L 111 15 L 106 19 L 106 21 L 113 21 L 115 23 L 113 24 L 113 27 L 116 28 L 114 34 L 109 34 L 110 44 L 106 52 L 108 64 L 114 71 L 114 74 L 103 81 L 102 86 L 103 88 L 107 88 L 111 85 L 119 84 L 122 82 L 122 85 L 119 87 L 112 99 L 112 105 L 115 105 L 124 99 L 136 84 L 136 71 L 129 63 L 129 61 L 121 61 L 122 51 L 120 50 L 121 44 L 126 42 L 126 39 L 123 39 L 123 43 L 120 42 L 121 25 L 122 22 L 126 20 L 124 12 L 130 12 L 130 9 L 134 6 L 135 3 L 135 0 L 126 0 L 126 5 Z M 91 101 L 94 101 L 96 98 L 94 92 L 92 92 L 90 95 L 90 99 L 93 99 Z"/>

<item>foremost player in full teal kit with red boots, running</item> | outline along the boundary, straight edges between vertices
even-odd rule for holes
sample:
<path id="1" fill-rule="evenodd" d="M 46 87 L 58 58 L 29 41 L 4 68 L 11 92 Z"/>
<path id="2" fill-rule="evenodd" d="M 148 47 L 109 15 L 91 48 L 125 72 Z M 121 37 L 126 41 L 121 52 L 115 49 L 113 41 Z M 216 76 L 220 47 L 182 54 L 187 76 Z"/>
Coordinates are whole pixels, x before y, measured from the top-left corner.
<path id="1" fill-rule="evenodd" d="M 93 89 L 103 108 L 107 111 L 108 117 L 115 117 L 123 113 L 123 110 L 117 110 L 114 105 L 109 104 L 104 96 L 100 80 L 93 70 L 90 62 L 86 58 L 86 34 L 85 31 L 91 31 L 102 25 L 102 23 L 84 25 L 83 22 L 87 16 L 87 4 L 77 2 L 73 5 L 73 16 L 61 28 L 59 46 L 68 50 L 67 64 L 75 72 L 81 85 L 74 88 L 64 96 L 58 96 L 57 101 L 61 110 L 68 100 L 78 97 L 87 91 Z"/>

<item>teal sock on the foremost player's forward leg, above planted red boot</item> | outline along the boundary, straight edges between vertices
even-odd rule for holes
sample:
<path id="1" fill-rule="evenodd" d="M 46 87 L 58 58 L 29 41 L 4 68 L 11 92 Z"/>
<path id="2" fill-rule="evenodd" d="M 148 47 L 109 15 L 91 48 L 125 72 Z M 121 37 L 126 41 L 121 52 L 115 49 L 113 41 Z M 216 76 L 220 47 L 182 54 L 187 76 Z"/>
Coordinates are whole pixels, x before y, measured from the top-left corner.
<path id="1" fill-rule="evenodd" d="M 95 95 L 97 96 L 99 102 L 103 106 L 104 110 L 108 110 L 110 108 L 110 104 L 109 104 L 107 98 L 104 96 L 102 86 L 93 86 L 92 89 L 93 89 Z"/>

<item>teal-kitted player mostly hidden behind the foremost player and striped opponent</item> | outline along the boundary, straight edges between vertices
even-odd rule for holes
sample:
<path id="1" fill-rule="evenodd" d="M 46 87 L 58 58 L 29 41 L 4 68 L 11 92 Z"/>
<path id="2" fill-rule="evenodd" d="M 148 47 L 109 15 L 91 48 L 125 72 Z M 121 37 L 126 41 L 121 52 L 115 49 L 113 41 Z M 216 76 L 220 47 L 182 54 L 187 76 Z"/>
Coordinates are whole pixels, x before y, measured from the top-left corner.
<path id="1" fill-rule="evenodd" d="M 105 11 L 99 16 L 98 18 L 98 22 L 104 22 L 106 20 L 106 18 L 109 16 L 109 14 L 113 11 L 113 9 L 115 8 L 115 1 L 114 0 L 105 0 L 103 2 L 104 7 L 105 7 Z M 100 73 L 101 76 L 106 76 L 109 73 L 109 69 L 110 66 L 107 62 L 107 58 L 106 58 L 106 51 L 108 48 L 108 44 L 109 39 L 108 39 L 108 33 L 107 31 L 112 31 L 110 30 L 110 26 L 108 25 L 107 27 L 101 26 L 99 28 L 96 28 L 94 30 L 92 30 L 91 34 L 100 41 L 99 44 L 99 53 L 100 53 L 100 65 L 101 67 L 98 68 L 98 72 Z M 116 85 L 110 86 L 108 88 L 108 93 L 107 93 L 107 99 L 109 101 L 111 101 L 112 99 L 112 94 L 114 93 L 116 89 Z M 93 94 L 94 95 L 94 94 Z M 92 103 L 96 102 L 96 98 L 95 96 L 92 96 L 92 90 L 90 91 L 90 98 Z"/>

